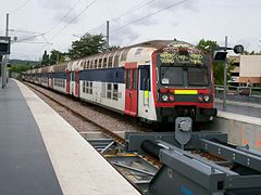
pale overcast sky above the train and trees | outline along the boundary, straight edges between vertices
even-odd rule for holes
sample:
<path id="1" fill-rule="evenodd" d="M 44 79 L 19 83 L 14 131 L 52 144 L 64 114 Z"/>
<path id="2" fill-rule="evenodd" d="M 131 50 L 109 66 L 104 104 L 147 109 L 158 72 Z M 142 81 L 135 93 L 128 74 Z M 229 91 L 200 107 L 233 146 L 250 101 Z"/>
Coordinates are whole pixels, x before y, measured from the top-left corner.
<path id="1" fill-rule="evenodd" d="M 105 34 L 110 44 L 154 39 L 194 44 L 202 38 L 261 50 L 260 0 L 1 0 L 0 35 L 17 37 L 11 58 L 39 60 L 45 50 L 67 51 L 86 32 Z M 33 37 L 33 38 L 32 38 Z M 21 41 L 21 42 L 20 42 Z"/>

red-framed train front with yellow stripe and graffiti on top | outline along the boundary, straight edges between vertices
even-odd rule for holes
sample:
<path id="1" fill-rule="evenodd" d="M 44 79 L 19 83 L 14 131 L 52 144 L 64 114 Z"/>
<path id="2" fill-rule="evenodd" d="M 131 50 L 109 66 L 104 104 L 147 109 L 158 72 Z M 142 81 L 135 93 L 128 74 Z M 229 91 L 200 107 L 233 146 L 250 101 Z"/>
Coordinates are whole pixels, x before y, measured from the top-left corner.
<path id="1" fill-rule="evenodd" d="M 182 51 L 179 51 L 182 50 Z M 210 57 L 187 43 L 154 52 L 153 93 L 157 120 L 174 122 L 190 117 L 195 122 L 216 116 Z"/>

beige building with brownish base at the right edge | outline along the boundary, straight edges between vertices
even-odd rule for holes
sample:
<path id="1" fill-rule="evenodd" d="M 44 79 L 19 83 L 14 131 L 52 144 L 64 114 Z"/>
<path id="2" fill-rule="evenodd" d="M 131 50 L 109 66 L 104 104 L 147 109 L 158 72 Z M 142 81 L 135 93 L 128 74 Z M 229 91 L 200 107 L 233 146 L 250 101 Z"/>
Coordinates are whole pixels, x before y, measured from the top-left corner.
<path id="1" fill-rule="evenodd" d="M 229 56 L 228 61 L 235 66 L 232 86 L 261 86 L 261 55 Z"/>

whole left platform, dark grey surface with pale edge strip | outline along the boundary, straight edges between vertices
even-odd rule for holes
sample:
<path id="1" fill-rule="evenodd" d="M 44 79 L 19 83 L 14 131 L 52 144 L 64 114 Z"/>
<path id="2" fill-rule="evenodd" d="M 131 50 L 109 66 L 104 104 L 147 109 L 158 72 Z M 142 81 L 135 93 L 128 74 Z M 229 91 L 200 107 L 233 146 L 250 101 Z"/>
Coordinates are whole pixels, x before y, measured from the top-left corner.
<path id="1" fill-rule="evenodd" d="M 10 79 L 0 89 L 0 194 L 139 192 L 49 105 Z"/>

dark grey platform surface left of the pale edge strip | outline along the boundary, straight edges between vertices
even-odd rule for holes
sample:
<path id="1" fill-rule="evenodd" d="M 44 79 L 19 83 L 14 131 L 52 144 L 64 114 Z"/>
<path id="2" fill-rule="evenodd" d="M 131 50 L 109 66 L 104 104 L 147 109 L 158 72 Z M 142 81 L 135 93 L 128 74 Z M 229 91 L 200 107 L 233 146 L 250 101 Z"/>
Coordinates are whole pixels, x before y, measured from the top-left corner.
<path id="1" fill-rule="evenodd" d="M 39 128 L 13 80 L 0 89 L 0 194 L 62 194 Z"/>

